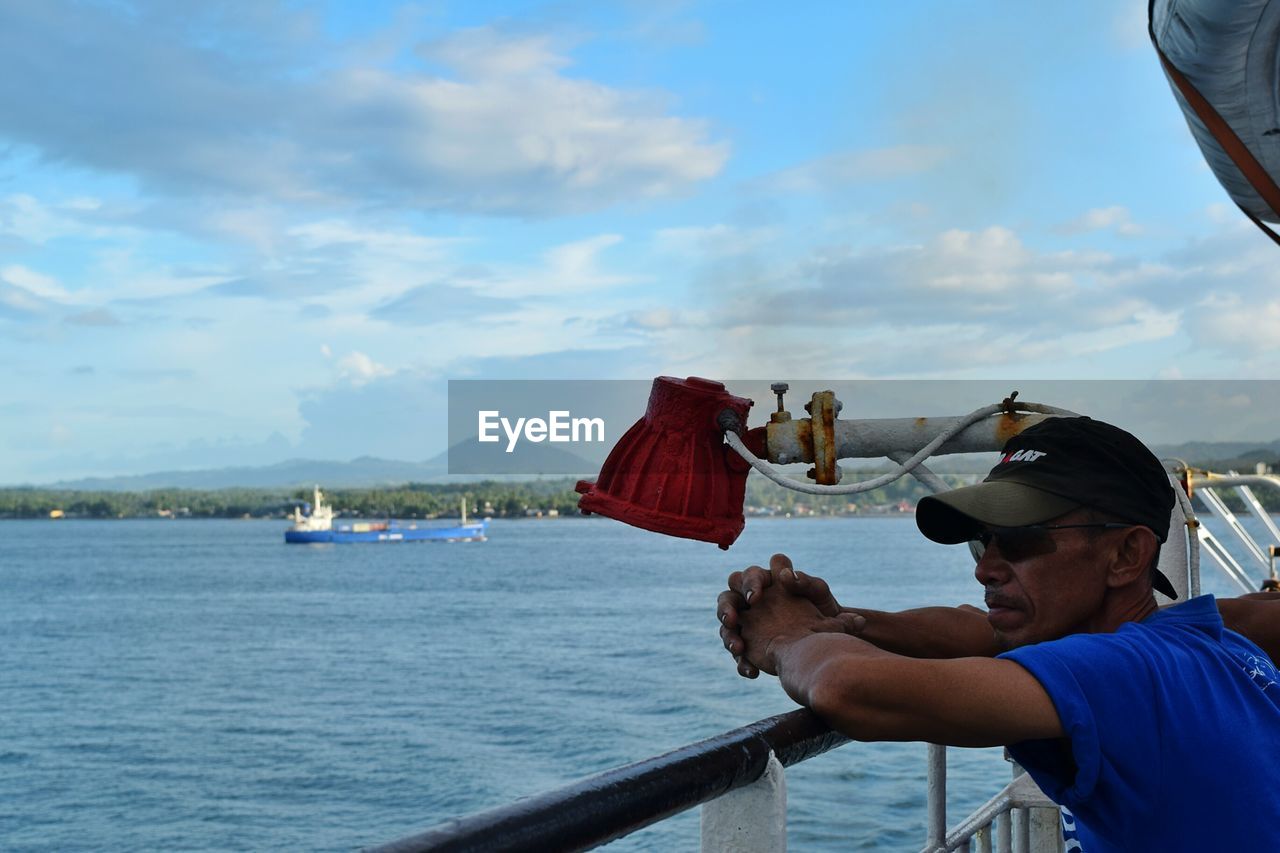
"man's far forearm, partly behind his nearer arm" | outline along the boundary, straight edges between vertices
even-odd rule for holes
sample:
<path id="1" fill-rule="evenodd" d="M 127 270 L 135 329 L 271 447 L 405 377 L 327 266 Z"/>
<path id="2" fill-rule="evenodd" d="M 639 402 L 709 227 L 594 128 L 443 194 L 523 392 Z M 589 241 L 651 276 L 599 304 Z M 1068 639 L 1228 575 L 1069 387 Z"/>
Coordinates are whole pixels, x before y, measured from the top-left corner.
<path id="1" fill-rule="evenodd" d="M 995 657 L 1000 652 L 986 613 L 977 608 L 844 610 L 867 620 L 858 637 L 895 654 L 936 660 Z"/>

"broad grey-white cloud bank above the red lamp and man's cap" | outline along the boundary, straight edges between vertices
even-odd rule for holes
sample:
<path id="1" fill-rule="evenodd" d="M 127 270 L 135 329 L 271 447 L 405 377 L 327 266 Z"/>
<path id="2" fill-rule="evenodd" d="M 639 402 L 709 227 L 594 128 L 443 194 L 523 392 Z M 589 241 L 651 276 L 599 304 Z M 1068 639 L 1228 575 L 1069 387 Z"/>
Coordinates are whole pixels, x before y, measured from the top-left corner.
<path id="1" fill-rule="evenodd" d="M 740 374 L 753 364 L 776 373 L 788 359 L 809 375 L 1085 365 L 1098 353 L 1175 341 L 1189 305 L 1167 265 L 1043 251 L 1006 227 L 948 229 L 918 245 L 828 247 L 741 272 L 733 263 L 707 270 L 709 328 L 686 320 L 663 343 L 714 339 L 710 357 Z"/>

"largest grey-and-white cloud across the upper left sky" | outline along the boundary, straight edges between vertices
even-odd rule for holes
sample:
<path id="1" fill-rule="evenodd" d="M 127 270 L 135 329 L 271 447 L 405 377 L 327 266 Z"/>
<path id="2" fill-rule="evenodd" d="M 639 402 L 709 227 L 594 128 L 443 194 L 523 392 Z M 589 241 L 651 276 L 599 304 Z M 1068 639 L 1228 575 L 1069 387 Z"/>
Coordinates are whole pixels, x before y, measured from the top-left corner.
<path id="1" fill-rule="evenodd" d="M 568 58 L 538 33 L 453 33 L 425 49 L 444 65 L 433 74 L 340 54 L 316 68 L 302 47 L 329 44 L 284 6 L 200 27 L 163 5 L 27 12 L 0 28 L 6 74 L 26 81 L 0 88 L 6 136 L 145 187 L 547 215 L 682 192 L 728 156 L 660 93 L 563 76 Z"/>

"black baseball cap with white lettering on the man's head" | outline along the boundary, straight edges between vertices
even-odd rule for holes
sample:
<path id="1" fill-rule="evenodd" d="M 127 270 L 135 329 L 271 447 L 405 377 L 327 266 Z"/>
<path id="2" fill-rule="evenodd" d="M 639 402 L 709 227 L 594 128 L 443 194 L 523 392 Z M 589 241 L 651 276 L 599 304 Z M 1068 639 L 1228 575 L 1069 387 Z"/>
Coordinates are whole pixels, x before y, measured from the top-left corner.
<path id="1" fill-rule="evenodd" d="M 1160 460 L 1137 438 L 1091 418 L 1050 418 L 1005 443 L 987 479 L 920 500 L 920 533 L 943 544 L 968 542 L 983 528 L 1042 524 L 1091 507 L 1169 538 L 1174 489 Z M 1152 585 L 1178 593 L 1160 571 Z"/>

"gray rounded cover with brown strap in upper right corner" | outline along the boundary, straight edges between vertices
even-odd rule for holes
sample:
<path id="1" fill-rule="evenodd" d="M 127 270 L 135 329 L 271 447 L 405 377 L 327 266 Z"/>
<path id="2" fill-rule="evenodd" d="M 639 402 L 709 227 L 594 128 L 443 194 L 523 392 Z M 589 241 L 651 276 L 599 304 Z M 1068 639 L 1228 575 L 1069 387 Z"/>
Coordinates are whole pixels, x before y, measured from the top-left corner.
<path id="1" fill-rule="evenodd" d="M 1280 183 L 1280 0 L 1153 0 L 1156 44 Z M 1213 174 L 1238 205 L 1280 222 L 1174 86 Z"/>

